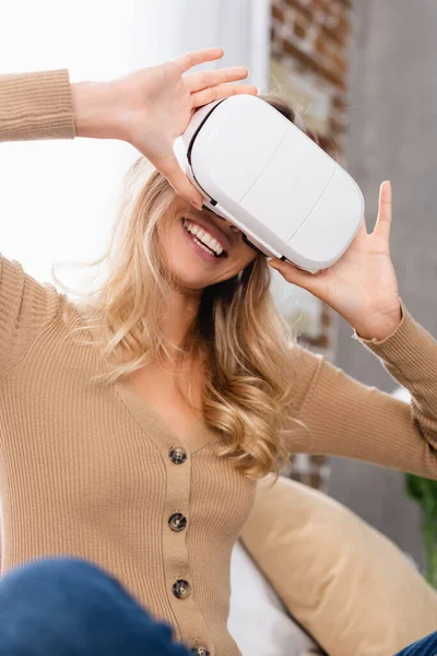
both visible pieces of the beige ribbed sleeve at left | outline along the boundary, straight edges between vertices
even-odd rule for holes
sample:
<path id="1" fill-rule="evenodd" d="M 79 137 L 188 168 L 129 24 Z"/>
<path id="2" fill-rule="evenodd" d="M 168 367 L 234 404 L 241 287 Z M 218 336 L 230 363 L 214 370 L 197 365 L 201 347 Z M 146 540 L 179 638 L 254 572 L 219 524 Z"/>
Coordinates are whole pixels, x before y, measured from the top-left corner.
<path id="1" fill-rule="evenodd" d="M 0 75 L 0 141 L 74 139 L 67 69 Z M 59 295 L 0 254 L 0 378 L 55 319 Z"/>

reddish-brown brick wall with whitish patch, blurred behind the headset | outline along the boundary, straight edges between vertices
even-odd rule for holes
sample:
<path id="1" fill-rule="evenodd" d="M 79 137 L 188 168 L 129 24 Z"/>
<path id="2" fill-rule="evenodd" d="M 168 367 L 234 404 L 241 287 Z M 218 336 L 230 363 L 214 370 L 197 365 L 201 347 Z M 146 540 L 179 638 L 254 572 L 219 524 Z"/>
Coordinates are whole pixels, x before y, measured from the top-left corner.
<path id="1" fill-rule="evenodd" d="M 352 0 L 272 0 L 270 90 L 292 101 L 308 134 L 343 166 L 351 14 Z M 333 362 L 336 315 L 322 304 L 318 336 L 303 332 L 299 342 Z M 283 473 L 323 490 L 329 471 L 326 457 L 298 455 Z"/>

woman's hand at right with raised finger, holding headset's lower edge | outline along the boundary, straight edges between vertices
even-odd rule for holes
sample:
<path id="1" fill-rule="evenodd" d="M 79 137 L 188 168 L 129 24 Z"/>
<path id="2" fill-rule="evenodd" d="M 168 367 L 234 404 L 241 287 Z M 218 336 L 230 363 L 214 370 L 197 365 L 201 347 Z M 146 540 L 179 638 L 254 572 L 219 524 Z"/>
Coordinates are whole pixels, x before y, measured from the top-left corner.
<path id="1" fill-rule="evenodd" d="M 274 258 L 269 265 L 287 282 L 304 288 L 351 324 L 359 337 L 381 341 L 399 326 L 402 313 L 398 281 L 390 257 L 391 183 L 379 189 L 375 230 L 367 233 L 366 220 L 343 256 L 316 274 Z"/>

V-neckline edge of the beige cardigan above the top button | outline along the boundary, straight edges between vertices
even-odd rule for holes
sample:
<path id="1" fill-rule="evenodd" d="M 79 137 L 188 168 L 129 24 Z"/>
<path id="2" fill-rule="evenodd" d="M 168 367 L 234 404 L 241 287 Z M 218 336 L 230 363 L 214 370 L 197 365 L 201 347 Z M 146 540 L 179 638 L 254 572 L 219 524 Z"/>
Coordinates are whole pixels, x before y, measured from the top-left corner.
<path id="1" fill-rule="evenodd" d="M 184 446 L 192 454 L 214 438 L 215 432 L 208 426 L 204 417 L 184 435 L 178 435 L 164 417 L 138 394 L 129 376 L 118 378 L 115 387 L 143 431 L 150 433 L 152 430 L 155 435 L 163 437 L 167 445 Z"/>

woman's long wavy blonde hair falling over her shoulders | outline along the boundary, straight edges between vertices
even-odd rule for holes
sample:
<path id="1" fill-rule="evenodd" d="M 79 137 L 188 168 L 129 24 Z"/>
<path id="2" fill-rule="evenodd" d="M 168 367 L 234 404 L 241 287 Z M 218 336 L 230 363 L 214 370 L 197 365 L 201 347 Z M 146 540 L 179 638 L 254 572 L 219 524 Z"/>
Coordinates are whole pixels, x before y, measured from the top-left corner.
<path id="1" fill-rule="evenodd" d="M 261 96 L 290 120 L 296 114 L 277 95 Z M 94 291 L 75 303 L 83 319 L 73 331 L 98 329 L 105 373 L 93 379 L 117 378 L 172 358 L 169 347 L 185 359 L 201 359 L 202 411 L 206 423 L 222 432 L 220 455 L 229 457 L 248 478 L 279 475 L 290 458 L 294 390 L 295 335 L 276 311 L 271 270 L 265 257 L 256 258 L 237 276 L 202 290 L 198 314 L 181 347 L 166 343 L 160 308 L 168 307 L 176 281 L 163 261 L 162 218 L 175 192 L 145 157 L 139 157 L 123 178 L 118 218 L 104 255 L 85 266 L 106 268 Z M 95 343 L 96 338 L 92 342 Z M 302 422 L 297 422 L 302 425 Z"/>

